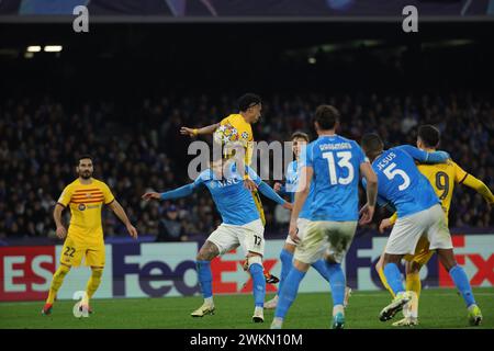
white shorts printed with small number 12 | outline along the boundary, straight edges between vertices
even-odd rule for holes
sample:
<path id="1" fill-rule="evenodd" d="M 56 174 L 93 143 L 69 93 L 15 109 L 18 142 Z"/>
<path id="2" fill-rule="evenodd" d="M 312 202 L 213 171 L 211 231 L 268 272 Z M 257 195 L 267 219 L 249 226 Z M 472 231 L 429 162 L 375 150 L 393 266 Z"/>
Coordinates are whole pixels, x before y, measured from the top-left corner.
<path id="1" fill-rule="evenodd" d="M 244 253 L 265 254 L 265 226 L 260 219 L 252 220 L 243 226 L 222 223 L 207 238 L 213 242 L 220 254 L 242 247 Z"/>

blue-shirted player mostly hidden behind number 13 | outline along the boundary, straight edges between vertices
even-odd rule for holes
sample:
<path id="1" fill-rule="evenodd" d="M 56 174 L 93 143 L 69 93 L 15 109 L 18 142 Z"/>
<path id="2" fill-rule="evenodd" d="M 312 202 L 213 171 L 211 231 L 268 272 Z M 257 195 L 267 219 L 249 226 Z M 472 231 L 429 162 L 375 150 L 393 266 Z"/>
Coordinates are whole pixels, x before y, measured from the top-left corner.
<path id="1" fill-rule="evenodd" d="M 292 148 L 293 154 L 295 156 L 295 160 L 290 162 L 287 167 L 287 173 L 285 179 L 287 182 L 284 185 L 277 182 L 274 183 L 274 191 L 280 193 L 281 195 L 290 194 L 292 202 L 295 197 L 296 186 L 299 185 L 299 174 L 300 174 L 300 151 L 302 147 L 305 147 L 308 143 L 308 135 L 302 132 L 295 132 L 292 134 L 292 137 L 290 138 L 292 140 Z M 299 238 L 303 238 L 304 227 L 308 223 L 310 214 L 311 214 L 311 204 L 312 199 L 314 196 L 314 186 L 311 186 L 311 190 L 307 195 L 307 200 L 305 201 L 304 206 L 302 207 L 302 211 L 300 212 L 299 219 L 297 219 L 297 227 L 299 227 Z M 266 309 L 273 309 L 278 305 L 279 294 L 281 292 L 281 288 L 283 287 L 284 280 L 287 279 L 287 275 L 289 274 L 290 270 L 292 269 L 292 262 L 293 262 L 293 253 L 295 252 L 296 244 L 293 241 L 290 237 L 290 235 L 287 237 L 287 240 L 284 242 L 283 249 L 280 253 L 280 261 L 281 261 L 281 276 L 280 276 L 280 284 L 278 286 L 278 293 L 274 295 L 273 298 L 268 301 L 265 304 Z M 312 263 L 312 267 L 319 272 L 319 274 L 329 282 L 329 276 L 327 274 L 326 263 L 323 259 Z M 345 305 L 347 304 L 348 296 L 350 294 L 350 288 L 346 288 L 345 294 Z"/>

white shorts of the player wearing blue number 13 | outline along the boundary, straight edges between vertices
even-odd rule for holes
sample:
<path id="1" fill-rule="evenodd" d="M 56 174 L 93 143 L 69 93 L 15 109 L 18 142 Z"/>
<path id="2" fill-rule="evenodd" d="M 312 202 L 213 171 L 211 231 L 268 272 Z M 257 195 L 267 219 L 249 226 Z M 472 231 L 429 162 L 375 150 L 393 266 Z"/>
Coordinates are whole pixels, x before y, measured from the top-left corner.
<path id="1" fill-rule="evenodd" d="M 340 263 L 353 240 L 357 220 L 307 220 L 304 237 L 295 248 L 297 261 L 312 264 L 325 254 Z"/>

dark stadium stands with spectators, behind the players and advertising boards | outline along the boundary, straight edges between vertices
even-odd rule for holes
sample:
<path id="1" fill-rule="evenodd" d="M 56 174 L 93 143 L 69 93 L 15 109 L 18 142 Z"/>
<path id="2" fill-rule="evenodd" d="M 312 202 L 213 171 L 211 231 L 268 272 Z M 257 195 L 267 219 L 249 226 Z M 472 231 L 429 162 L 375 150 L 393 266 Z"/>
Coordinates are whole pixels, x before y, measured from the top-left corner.
<path id="1" fill-rule="evenodd" d="M 203 240 L 220 223 L 206 191 L 150 204 L 141 195 L 191 181 L 191 140 L 179 127 L 220 121 L 248 91 L 265 101 L 256 140 L 285 140 L 296 129 L 314 137 L 311 117 L 319 103 L 341 111 L 343 135 L 358 140 L 374 131 L 390 147 L 415 144 L 417 126 L 430 123 L 442 132 L 441 148 L 494 189 L 490 1 L 471 8 L 415 1 L 427 16 L 411 34 L 402 31 L 401 1 L 375 2 L 379 13 L 366 1 L 307 1 L 299 9 L 304 18 L 291 12 L 292 1 L 270 8 L 236 1 L 235 11 L 232 1 L 211 1 L 213 12 L 207 1 L 86 1 L 90 32 L 80 34 L 70 22 L 72 2 L 85 3 L 0 5 L 5 245 L 54 238 L 52 211 L 81 154 L 94 157 L 96 177 L 110 184 L 143 236 Z M 33 45 L 41 52 L 30 53 Z M 46 53 L 46 45 L 63 48 Z M 267 238 L 284 236 L 288 213 L 265 205 Z M 170 206 L 177 215 L 168 215 Z M 108 238 L 126 235 L 113 214 L 103 215 Z M 378 214 L 374 227 L 385 215 Z M 179 224 L 172 238 L 166 220 Z M 457 186 L 450 224 L 489 228 L 494 217 L 480 195 Z"/>

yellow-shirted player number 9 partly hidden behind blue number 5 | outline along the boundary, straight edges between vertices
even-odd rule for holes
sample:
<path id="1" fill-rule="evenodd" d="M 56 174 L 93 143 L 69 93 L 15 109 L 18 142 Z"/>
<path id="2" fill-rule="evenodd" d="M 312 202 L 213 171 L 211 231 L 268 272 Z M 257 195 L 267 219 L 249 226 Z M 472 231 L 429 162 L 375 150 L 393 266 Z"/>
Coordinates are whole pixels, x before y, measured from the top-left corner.
<path id="1" fill-rule="evenodd" d="M 423 125 L 418 128 L 417 147 L 422 150 L 433 152 L 436 151 L 440 143 L 439 131 L 431 125 Z M 438 165 L 417 165 L 418 170 L 423 173 L 429 183 L 433 185 L 434 191 L 441 202 L 441 206 L 446 212 L 446 223 L 448 223 L 449 207 L 451 205 L 452 193 L 454 184 L 464 184 L 471 189 L 474 189 L 481 194 L 487 204 L 494 204 L 494 195 L 491 190 L 481 180 L 476 179 L 472 174 L 467 173 L 461 167 L 459 167 L 452 160 L 448 160 L 446 163 Z M 379 230 L 383 233 L 386 228 L 394 225 L 397 214 L 394 213 L 390 218 L 385 218 L 381 222 Z M 403 314 L 405 318 L 396 321 L 393 326 L 415 326 L 418 324 L 418 298 L 420 296 L 420 278 L 419 271 L 424 264 L 433 257 L 434 251 L 429 248 L 429 241 L 426 237 L 420 237 L 414 254 L 406 254 L 404 257 L 406 261 L 406 290 L 413 291 L 417 298 L 413 298 L 407 306 L 404 307 Z M 383 285 L 390 291 L 394 297 L 394 293 L 386 282 L 384 272 L 382 269 L 382 261 L 384 254 L 381 256 L 375 269 L 381 278 Z M 415 296 L 415 295 L 414 295 Z M 408 308 L 407 308 L 408 307 Z M 476 312 L 475 307 L 469 309 L 469 319 L 473 325 L 478 325 L 482 320 L 482 316 Z"/>

